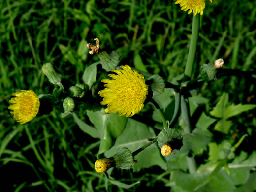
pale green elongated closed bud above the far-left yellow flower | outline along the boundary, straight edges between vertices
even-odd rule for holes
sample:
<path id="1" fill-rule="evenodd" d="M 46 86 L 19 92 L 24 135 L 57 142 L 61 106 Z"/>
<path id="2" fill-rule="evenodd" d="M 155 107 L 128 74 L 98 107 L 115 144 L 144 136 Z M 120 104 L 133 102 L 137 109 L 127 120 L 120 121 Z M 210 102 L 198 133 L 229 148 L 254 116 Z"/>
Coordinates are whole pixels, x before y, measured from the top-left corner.
<path id="1" fill-rule="evenodd" d="M 50 83 L 60 84 L 62 78 L 59 73 L 57 73 L 54 69 L 53 64 L 46 63 L 42 67 L 43 73 L 48 77 Z"/>

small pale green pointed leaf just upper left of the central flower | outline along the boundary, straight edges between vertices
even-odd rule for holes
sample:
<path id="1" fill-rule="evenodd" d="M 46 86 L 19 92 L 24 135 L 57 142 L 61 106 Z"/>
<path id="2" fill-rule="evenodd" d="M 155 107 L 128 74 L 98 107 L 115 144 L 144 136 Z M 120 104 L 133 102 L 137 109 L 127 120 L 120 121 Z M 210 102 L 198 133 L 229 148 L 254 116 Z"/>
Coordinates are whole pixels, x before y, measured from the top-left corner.
<path id="1" fill-rule="evenodd" d="M 96 82 L 98 64 L 99 62 L 96 62 L 85 68 L 85 71 L 83 74 L 83 81 L 85 82 L 86 85 L 89 86 L 89 89 L 91 89 L 94 82 Z"/>

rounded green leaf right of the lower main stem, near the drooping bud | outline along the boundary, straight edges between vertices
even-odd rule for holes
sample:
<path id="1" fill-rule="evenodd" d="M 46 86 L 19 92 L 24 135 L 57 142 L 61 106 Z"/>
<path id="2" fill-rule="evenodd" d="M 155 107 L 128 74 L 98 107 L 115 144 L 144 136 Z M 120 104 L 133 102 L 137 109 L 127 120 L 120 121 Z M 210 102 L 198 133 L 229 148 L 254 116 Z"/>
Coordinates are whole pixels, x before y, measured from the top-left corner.
<path id="1" fill-rule="evenodd" d="M 192 150 L 193 154 L 200 154 L 206 149 L 211 142 L 212 133 L 208 130 L 195 128 L 192 133 L 183 136 L 183 144 L 188 150 Z"/>

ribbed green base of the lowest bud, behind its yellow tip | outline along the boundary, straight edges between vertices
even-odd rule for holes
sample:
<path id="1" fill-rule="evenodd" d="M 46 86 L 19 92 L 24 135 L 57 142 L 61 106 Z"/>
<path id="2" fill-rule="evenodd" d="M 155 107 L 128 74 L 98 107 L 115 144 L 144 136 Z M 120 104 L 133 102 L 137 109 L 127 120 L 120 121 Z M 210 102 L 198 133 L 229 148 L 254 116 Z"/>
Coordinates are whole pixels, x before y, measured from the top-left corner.
<path id="1" fill-rule="evenodd" d="M 121 169 L 130 169 L 135 164 L 132 153 L 127 147 L 118 149 L 113 158 L 115 166 Z"/>

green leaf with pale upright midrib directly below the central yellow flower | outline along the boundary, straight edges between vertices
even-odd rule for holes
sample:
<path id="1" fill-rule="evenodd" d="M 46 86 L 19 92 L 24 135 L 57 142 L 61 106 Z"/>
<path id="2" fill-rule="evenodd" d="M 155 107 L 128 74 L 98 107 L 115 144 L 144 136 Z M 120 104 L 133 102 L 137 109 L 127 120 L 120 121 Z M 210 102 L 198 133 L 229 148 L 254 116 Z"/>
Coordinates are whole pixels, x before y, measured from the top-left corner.
<path id="1" fill-rule="evenodd" d="M 106 114 L 103 109 L 96 112 L 87 111 L 87 115 L 100 132 L 98 154 L 104 153 L 114 145 L 116 138 L 123 132 L 128 118 L 117 114 Z"/>

